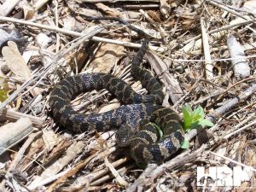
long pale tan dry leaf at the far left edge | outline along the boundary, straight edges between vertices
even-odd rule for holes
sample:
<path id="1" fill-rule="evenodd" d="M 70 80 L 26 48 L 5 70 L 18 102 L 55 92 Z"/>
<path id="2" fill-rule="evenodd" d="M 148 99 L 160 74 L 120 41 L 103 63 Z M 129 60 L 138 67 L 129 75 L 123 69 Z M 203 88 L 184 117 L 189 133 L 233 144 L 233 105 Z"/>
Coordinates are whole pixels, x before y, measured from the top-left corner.
<path id="1" fill-rule="evenodd" d="M 9 69 L 15 73 L 17 79 L 20 81 L 26 81 L 32 77 L 26 62 L 20 55 L 20 51 L 13 41 L 8 42 L 8 46 L 3 47 L 2 50 L 3 57 L 6 61 L 6 65 Z"/>

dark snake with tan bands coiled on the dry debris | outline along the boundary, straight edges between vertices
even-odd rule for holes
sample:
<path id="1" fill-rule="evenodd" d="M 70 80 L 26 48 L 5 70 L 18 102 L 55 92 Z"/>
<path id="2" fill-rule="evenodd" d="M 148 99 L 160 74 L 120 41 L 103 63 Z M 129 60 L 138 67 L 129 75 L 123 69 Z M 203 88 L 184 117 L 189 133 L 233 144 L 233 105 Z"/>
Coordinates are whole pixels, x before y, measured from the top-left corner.
<path id="1" fill-rule="evenodd" d="M 117 128 L 120 147 L 129 147 L 138 166 L 163 163 L 183 143 L 182 121 L 171 108 L 161 105 L 164 93 L 160 82 L 142 66 L 148 39 L 131 61 L 131 76 L 140 81 L 148 95 L 138 94 L 130 84 L 110 73 L 81 73 L 62 79 L 49 96 L 49 107 L 58 124 L 75 132 L 108 131 Z M 121 105 L 105 113 L 76 112 L 71 101 L 90 90 L 108 90 Z M 160 136 L 162 133 L 162 136 Z"/>

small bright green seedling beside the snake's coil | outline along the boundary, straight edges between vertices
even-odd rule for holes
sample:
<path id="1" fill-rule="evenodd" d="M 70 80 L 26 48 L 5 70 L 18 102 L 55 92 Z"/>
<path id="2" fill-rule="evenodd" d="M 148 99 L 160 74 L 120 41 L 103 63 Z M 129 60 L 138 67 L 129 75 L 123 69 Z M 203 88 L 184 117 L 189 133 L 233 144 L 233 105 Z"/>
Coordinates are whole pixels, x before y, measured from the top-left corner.
<path id="1" fill-rule="evenodd" d="M 210 120 L 205 119 L 204 109 L 201 106 L 193 111 L 189 105 L 183 106 L 183 130 L 189 132 L 200 127 L 213 126 Z M 189 148 L 189 141 L 184 139 L 182 148 Z"/>

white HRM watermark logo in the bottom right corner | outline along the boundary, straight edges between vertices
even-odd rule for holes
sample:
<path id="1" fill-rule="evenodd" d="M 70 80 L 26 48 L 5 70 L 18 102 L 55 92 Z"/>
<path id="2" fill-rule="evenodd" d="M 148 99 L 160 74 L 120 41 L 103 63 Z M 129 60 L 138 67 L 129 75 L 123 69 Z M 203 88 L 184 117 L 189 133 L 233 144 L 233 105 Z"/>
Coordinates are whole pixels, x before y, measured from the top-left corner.
<path id="1" fill-rule="evenodd" d="M 241 169 L 241 166 L 210 166 L 208 172 L 205 167 L 197 167 L 197 186 L 241 186 L 241 182 L 250 181 L 253 171 L 250 167 Z M 207 181 L 205 181 L 207 179 Z"/>

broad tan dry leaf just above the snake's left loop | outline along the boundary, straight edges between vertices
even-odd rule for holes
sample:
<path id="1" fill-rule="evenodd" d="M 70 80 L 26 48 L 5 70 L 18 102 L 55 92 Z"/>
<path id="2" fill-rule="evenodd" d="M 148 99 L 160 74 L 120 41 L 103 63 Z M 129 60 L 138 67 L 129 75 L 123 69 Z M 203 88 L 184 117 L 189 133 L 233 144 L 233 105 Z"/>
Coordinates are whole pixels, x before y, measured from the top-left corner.
<path id="1" fill-rule="evenodd" d="M 109 73 L 119 59 L 125 55 L 125 48 L 117 44 L 103 44 L 90 63 L 94 73 Z"/>

